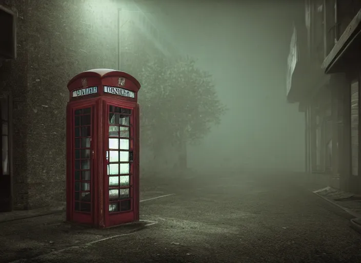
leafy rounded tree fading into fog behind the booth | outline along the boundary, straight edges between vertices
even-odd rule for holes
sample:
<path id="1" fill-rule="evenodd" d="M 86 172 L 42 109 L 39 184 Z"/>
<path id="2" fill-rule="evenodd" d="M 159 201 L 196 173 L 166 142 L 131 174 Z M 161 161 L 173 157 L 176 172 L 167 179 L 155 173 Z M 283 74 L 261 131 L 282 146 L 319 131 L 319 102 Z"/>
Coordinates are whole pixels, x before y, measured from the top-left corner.
<path id="1" fill-rule="evenodd" d="M 186 144 L 199 142 L 226 108 L 219 101 L 211 75 L 186 58 L 150 61 L 139 74 L 142 80 L 142 143 L 149 143 L 157 156 L 167 145 L 181 152 L 186 165 Z"/>

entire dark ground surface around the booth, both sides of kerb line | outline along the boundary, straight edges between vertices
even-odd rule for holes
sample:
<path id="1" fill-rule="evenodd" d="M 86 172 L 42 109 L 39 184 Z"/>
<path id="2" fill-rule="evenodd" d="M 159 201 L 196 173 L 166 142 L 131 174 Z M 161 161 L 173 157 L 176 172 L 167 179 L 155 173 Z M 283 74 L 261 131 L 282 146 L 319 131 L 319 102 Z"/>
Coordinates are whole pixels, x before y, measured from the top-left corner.
<path id="1" fill-rule="evenodd" d="M 63 213 L 0 223 L 0 262 L 361 262 L 354 215 L 285 175 L 147 178 L 141 190 L 142 221 L 117 228 Z"/>

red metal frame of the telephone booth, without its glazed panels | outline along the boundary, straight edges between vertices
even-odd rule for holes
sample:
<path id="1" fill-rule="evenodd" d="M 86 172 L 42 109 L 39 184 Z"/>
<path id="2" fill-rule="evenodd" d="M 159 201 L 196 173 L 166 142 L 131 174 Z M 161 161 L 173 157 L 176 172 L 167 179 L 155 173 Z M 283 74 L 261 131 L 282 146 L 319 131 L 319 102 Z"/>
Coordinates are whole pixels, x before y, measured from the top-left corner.
<path id="1" fill-rule="evenodd" d="M 125 78 L 124 86 L 118 86 L 118 79 Z M 84 85 L 86 79 L 86 85 Z M 98 87 L 98 92 L 72 98 L 72 91 L 86 87 Z M 134 99 L 103 92 L 103 86 L 128 89 L 134 92 Z M 67 220 L 106 228 L 117 224 L 139 220 L 139 105 L 137 92 L 141 85 L 131 75 L 111 69 L 94 69 L 82 72 L 68 83 L 70 102 L 67 105 Z M 106 151 L 108 151 L 108 107 L 109 105 L 132 109 L 133 150 L 133 209 L 131 212 L 109 214 L 109 182 Z M 91 107 L 91 213 L 74 212 L 74 110 Z M 119 202 L 120 204 L 120 202 Z"/>

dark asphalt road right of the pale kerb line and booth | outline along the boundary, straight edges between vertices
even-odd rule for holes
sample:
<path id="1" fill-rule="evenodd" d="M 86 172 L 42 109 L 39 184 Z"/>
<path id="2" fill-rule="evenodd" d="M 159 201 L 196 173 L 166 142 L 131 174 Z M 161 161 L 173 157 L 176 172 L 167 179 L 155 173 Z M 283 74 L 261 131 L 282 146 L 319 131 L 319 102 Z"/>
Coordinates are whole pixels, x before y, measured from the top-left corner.
<path id="1" fill-rule="evenodd" d="M 157 179 L 159 180 L 159 179 Z M 172 180 L 144 186 L 141 231 L 27 262 L 361 262 L 349 216 L 282 178 Z"/>

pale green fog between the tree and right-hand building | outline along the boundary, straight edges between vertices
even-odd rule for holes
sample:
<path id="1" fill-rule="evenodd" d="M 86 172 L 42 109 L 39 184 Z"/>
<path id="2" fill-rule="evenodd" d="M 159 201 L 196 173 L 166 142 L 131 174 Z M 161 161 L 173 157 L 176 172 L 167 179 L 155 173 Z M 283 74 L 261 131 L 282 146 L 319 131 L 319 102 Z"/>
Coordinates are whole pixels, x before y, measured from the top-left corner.
<path id="1" fill-rule="evenodd" d="M 189 168 L 304 171 L 304 114 L 286 99 L 292 12 L 299 8 L 289 2 L 136 2 L 179 52 L 212 74 L 227 107 L 219 125 L 188 143 Z"/>

